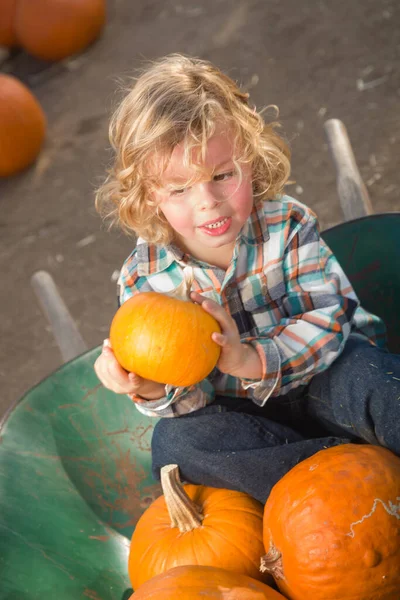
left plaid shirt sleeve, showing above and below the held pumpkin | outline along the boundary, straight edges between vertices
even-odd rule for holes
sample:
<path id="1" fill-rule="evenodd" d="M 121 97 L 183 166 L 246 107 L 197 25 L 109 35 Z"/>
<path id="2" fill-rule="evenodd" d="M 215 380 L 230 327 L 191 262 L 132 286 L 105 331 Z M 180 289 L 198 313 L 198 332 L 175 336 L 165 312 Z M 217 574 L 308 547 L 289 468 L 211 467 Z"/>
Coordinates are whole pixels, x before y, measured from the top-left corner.
<path id="1" fill-rule="evenodd" d="M 118 306 L 140 292 L 153 291 L 147 278 L 137 273 L 137 258 L 134 251 L 125 261 L 118 278 Z M 213 402 L 214 386 L 204 379 L 190 387 L 174 387 L 167 384 L 165 395 L 157 400 L 144 400 L 130 396 L 139 412 L 149 417 L 178 417 L 203 408 Z"/>

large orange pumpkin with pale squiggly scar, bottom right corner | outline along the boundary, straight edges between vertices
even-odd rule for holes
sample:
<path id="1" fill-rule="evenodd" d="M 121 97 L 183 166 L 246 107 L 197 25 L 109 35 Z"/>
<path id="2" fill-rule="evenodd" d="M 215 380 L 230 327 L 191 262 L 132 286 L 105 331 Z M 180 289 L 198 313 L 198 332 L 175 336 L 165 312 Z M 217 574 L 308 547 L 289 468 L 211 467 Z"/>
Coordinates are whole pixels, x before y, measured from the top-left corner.
<path id="1" fill-rule="evenodd" d="M 290 600 L 398 600 L 400 458 L 345 444 L 299 463 L 267 500 L 264 545 Z"/>

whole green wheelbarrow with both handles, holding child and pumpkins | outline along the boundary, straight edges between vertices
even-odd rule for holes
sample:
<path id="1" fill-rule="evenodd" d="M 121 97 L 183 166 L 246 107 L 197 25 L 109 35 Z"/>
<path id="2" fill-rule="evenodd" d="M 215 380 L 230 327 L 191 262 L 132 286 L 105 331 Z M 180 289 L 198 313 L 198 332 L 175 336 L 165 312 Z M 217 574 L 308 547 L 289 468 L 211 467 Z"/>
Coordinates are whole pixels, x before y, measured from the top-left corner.
<path id="1" fill-rule="evenodd" d="M 323 237 L 400 353 L 400 213 L 372 213 L 343 124 L 325 130 L 345 222 Z M 100 348 L 87 350 L 49 274 L 32 282 L 65 364 L 0 425 L 0 600 L 125 600 L 130 537 L 161 493 L 156 420 L 99 384 Z"/>

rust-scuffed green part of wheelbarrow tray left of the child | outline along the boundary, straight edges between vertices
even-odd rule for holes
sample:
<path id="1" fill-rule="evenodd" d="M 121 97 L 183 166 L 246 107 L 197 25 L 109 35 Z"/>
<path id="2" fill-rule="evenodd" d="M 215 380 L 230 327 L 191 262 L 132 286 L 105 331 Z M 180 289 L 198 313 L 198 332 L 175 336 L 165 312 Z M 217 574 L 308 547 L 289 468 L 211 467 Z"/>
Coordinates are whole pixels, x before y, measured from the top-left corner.
<path id="1" fill-rule="evenodd" d="M 156 419 L 105 390 L 99 349 L 63 365 L 0 428 L 0 598 L 121 600 L 130 537 L 161 494 Z"/>

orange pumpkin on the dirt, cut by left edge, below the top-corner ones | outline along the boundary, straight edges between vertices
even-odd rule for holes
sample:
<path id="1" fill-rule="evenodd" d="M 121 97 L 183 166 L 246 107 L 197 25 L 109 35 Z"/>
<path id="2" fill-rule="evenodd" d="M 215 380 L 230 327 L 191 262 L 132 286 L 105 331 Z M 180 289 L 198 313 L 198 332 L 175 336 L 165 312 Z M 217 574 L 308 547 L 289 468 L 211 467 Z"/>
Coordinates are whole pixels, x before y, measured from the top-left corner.
<path id="1" fill-rule="evenodd" d="M 0 177 L 28 167 L 40 152 L 45 132 L 44 112 L 18 79 L 0 73 Z"/>

